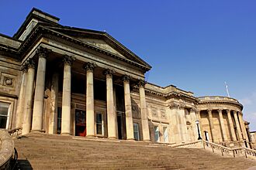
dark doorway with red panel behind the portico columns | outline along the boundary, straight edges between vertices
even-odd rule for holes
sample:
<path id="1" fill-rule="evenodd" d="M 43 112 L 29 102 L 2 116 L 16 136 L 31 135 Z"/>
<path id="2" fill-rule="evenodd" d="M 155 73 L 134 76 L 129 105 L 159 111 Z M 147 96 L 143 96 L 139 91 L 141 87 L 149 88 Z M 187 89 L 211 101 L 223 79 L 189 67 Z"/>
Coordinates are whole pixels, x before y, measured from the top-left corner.
<path id="1" fill-rule="evenodd" d="M 75 110 L 75 135 L 86 136 L 86 114 L 85 110 Z"/>

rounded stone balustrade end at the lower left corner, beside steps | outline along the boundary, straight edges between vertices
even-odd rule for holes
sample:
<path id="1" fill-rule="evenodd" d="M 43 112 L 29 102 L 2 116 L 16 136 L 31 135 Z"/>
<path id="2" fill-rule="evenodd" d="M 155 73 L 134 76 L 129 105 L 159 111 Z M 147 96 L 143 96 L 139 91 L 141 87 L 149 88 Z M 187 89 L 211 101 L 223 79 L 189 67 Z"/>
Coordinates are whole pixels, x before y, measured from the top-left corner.
<path id="1" fill-rule="evenodd" d="M 14 151 L 14 143 L 8 131 L 0 130 L 0 170 L 9 169 L 12 153 Z"/>

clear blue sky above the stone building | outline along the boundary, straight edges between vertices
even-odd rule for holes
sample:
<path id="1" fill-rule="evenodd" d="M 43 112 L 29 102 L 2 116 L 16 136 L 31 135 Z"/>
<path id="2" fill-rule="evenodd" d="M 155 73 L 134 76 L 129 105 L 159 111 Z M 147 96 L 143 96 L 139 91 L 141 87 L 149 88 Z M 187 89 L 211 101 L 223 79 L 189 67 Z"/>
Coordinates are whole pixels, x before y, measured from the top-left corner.
<path id="1" fill-rule="evenodd" d="M 106 30 L 150 63 L 151 83 L 174 84 L 199 97 L 227 96 L 227 81 L 256 131 L 254 0 L 2 0 L 0 32 L 12 36 L 33 7 L 65 26 Z"/>

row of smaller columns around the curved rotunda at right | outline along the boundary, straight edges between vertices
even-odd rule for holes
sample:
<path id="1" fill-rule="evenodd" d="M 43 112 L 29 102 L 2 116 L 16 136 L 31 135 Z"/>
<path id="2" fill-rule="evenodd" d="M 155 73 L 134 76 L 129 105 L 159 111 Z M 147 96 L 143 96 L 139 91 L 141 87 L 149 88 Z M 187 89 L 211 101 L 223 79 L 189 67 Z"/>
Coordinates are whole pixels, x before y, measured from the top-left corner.
<path id="1" fill-rule="evenodd" d="M 242 113 L 237 110 L 228 110 L 228 109 L 223 109 L 223 110 L 226 110 L 226 112 L 227 112 L 227 125 L 228 125 L 228 129 L 230 129 L 231 141 L 246 140 L 248 142 L 247 132 L 246 132 L 246 128 L 244 125 Z M 225 127 L 224 119 L 223 119 L 223 110 L 217 109 L 219 124 L 220 124 L 220 133 L 223 138 L 223 141 L 228 141 L 227 131 L 226 131 L 226 127 Z M 212 138 L 213 142 L 217 142 L 217 139 L 216 139 L 217 131 L 213 124 L 213 110 L 209 109 L 209 110 L 207 110 L 207 112 L 208 112 L 208 117 L 209 117 L 209 128 L 210 128 L 211 138 Z M 199 110 L 198 114 L 199 114 L 199 119 L 201 119 L 200 110 Z M 234 122 L 232 120 L 232 117 L 234 117 Z M 235 123 L 235 126 L 234 126 L 234 123 Z M 202 129 L 202 124 L 201 124 L 200 128 Z M 237 135 L 236 135 L 234 128 L 237 128 Z"/>

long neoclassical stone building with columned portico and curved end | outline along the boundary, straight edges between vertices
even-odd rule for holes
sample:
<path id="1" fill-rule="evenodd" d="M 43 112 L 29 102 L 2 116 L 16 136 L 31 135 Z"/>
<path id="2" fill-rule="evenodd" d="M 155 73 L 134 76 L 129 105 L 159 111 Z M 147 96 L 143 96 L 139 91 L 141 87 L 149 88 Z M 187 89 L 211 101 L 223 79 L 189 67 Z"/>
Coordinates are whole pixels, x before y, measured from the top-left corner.
<path id="1" fill-rule="evenodd" d="M 243 106 L 144 81 L 151 66 L 106 32 L 36 8 L 0 35 L 1 128 L 165 143 L 249 142 Z M 196 122 L 199 122 L 197 127 Z"/>

